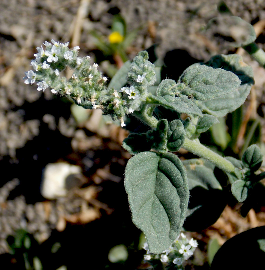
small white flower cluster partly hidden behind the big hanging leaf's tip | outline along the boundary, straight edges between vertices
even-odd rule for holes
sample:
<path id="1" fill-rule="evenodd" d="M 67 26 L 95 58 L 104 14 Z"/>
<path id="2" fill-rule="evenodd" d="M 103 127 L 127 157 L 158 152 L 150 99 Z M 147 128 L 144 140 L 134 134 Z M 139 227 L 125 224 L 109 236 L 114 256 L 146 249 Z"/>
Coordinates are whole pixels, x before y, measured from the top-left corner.
<path id="1" fill-rule="evenodd" d="M 168 263 L 168 264 L 175 264 L 176 268 L 181 269 L 182 263 L 188 259 L 195 248 L 198 246 L 196 240 L 191 238 L 190 240 L 185 236 L 182 232 L 173 244 L 167 249 L 164 250 L 162 254 L 155 255 L 150 253 L 149 247 L 147 242 L 144 243 L 143 249 L 146 250 L 146 254 L 144 255 L 144 259 L 146 261 L 158 260 L 160 259 L 161 262 Z"/>

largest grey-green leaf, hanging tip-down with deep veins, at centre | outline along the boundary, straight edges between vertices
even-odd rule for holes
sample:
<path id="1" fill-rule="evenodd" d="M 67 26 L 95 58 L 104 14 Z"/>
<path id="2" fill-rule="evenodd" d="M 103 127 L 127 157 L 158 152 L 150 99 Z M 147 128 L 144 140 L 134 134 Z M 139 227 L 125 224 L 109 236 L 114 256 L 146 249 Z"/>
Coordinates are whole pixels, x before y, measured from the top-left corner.
<path id="1" fill-rule="evenodd" d="M 132 220 L 146 235 L 150 252 L 162 253 L 179 235 L 188 207 L 182 162 L 172 153 L 139 153 L 127 163 L 125 189 Z"/>

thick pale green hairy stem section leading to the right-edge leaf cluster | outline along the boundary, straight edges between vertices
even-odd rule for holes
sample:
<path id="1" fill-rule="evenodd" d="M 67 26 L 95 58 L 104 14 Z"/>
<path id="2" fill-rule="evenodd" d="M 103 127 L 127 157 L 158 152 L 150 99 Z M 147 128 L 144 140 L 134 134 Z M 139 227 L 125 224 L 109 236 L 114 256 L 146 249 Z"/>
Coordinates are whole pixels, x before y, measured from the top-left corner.
<path id="1" fill-rule="evenodd" d="M 230 161 L 208 149 L 206 146 L 202 145 L 197 140 L 195 141 L 185 138 L 182 147 L 193 153 L 194 155 L 199 156 L 200 158 L 211 161 L 213 164 L 215 164 L 218 168 L 220 168 L 226 173 L 235 173 L 235 167 Z"/>

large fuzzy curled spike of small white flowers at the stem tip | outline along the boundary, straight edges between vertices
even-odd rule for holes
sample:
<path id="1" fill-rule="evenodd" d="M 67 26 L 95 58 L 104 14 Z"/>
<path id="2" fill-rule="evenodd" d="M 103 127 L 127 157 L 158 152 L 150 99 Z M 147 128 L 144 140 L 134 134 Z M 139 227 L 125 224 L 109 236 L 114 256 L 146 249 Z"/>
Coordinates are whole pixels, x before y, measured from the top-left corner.
<path id="1" fill-rule="evenodd" d="M 121 89 L 107 89 L 107 77 L 98 70 L 98 64 L 90 64 L 90 57 L 78 57 L 79 46 L 68 48 L 69 42 L 62 44 L 52 40 L 37 47 L 38 53 L 31 61 L 33 70 L 25 72 L 26 84 L 38 85 L 38 91 L 50 89 L 53 94 L 65 96 L 85 109 L 101 109 L 113 120 L 120 120 L 124 127 L 124 117 L 140 110 L 148 95 L 149 85 L 156 81 L 154 65 L 148 61 L 146 51 L 134 58 L 129 73 L 129 86 Z M 73 70 L 70 79 L 62 75 L 66 68 Z"/>

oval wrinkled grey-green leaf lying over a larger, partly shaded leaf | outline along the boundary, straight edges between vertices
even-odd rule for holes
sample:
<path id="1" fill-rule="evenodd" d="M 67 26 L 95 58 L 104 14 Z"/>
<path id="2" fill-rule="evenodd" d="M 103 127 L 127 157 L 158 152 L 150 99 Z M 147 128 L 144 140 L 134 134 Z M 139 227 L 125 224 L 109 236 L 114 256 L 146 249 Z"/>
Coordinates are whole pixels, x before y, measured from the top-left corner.
<path id="1" fill-rule="evenodd" d="M 186 86 L 180 89 L 180 94 L 200 101 L 210 100 L 235 91 L 240 82 L 238 76 L 232 72 L 195 64 L 188 67 L 180 76 L 179 83 Z"/>

